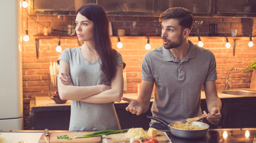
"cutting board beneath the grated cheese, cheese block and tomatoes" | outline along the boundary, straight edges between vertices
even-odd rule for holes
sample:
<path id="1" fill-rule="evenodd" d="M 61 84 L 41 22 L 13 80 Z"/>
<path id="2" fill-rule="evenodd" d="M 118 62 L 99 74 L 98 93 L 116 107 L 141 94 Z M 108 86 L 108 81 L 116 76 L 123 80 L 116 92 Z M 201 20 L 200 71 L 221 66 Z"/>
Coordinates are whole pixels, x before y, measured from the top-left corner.
<path id="1" fill-rule="evenodd" d="M 157 140 L 159 143 L 168 143 L 169 139 L 162 131 L 157 131 Z M 125 133 L 119 133 L 119 134 L 112 134 L 106 136 L 107 143 L 119 143 L 119 142 L 130 142 L 130 138 L 125 136 Z"/>

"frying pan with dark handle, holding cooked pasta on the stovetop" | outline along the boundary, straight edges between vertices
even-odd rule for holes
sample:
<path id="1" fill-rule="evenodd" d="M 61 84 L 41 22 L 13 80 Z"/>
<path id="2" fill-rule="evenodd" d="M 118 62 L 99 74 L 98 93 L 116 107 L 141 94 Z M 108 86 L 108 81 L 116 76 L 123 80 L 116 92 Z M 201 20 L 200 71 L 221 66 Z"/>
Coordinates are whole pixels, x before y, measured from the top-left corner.
<path id="1" fill-rule="evenodd" d="M 189 124 L 198 125 L 199 127 L 201 127 L 201 128 L 204 127 L 205 129 L 203 129 L 203 130 L 183 130 L 183 129 L 173 128 L 171 126 L 171 124 L 174 124 L 174 123 L 185 124 L 187 121 L 177 121 L 177 122 L 168 123 L 167 121 L 165 121 L 163 119 L 153 117 L 153 116 L 147 116 L 147 118 L 159 121 L 166 128 L 170 128 L 172 135 L 175 135 L 175 136 L 181 137 L 181 138 L 187 138 L 187 139 L 195 139 L 195 138 L 204 137 L 207 134 L 208 128 L 210 127 L 206 123 L 194 121 L 194 122 L 190 122 Z"/>

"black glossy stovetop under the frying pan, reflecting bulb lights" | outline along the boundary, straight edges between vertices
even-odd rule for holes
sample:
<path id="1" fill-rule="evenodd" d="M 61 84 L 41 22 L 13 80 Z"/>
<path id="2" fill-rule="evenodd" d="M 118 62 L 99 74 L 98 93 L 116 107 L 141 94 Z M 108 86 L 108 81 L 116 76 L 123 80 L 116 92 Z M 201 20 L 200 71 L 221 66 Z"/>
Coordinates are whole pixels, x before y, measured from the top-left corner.
<path id="1" fill-rule="evenodd" d="M 209 129 L 203 138 L 184 139 L 166 132 L 172 143 L 256 143 L 256 129 Z"/>

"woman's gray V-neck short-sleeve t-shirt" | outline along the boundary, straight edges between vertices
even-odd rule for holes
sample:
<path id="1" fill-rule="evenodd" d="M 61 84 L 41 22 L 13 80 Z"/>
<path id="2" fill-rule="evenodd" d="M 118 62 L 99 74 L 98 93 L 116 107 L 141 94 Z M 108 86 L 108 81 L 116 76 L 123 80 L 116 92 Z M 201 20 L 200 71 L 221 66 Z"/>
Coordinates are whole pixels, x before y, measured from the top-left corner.
<path id="1" fill-rule="evenodd" d="M 100 58 L 89 63 L 82 56 L 80 47 L 65 49 L 57 60 L 70 65 L 70 75 L 74 86 L 108 85 L 104 82 L 105 74 L 100 71 Z M 117 52 L 117 64 L 124 63 Z M 124 66 L 125 67 L 125 63 Z M 74 95 L 75 96 L 75 95 Z M 119 120 L 113 103 L 86 103 L 71 101 L 69 130 L 100 131 L 120 130 Z"/>

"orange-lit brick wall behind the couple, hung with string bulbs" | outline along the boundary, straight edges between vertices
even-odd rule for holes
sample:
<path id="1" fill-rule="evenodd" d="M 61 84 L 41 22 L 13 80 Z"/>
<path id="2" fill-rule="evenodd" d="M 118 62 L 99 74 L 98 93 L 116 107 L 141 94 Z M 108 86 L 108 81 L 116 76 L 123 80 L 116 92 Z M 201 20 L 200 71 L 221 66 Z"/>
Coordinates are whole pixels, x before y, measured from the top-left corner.
<path id="1" fill-rule="evenodd" d="M 23 36 L 26 30 L 27 12 L 26 9 L 22 10 L 22 32 Z M 39 22 L 40 24 L 36 23 Z M 146 37 L 128 37 L 131 30 L 133 21 L 137 21 L 138 34 L 152 33 L 160 35 L 160 27 L 156 33 L 156 26 L 153 21 L 158 20 L 158 17 L 133 17 L 133 16 L 109 16 L 112 22 L 113 47 L 117 49 L 117 29 L 125 29 L 127 36 L 120 37 L 123 43 L 122 49 L 117 49 L 123 56 L 126 62 L 127 72 L 127 92 L 135 92 L 133 85 L 140 82 L 140 66 L 143 55 L 148 51 L 145 49 Z M 218 32 L 230 35 L 231 29 L 237 29 L 237 35 L 255 35 L 256 18 L 200 18 L 196 20 L 203 21 L 202 26 L 199 28 L 199 35 L 204 42 L 204 48 L 210 49 L 217 61 L 217 88 L 224 88 L 226 73 L 231 68 L 238 68 L 237 71 L 232 71 L 229 81 L 234 88 L 249 87 L 250 77 L 252 71 L 249 73 L 241 73 L 247 65 L 256 59 L 256 46 L 248 47 L 248 38 L 237 38 L 235 56 L 233 56 L 233 39 L 228 37 L 231 43 L 231 48 L 225 48 L 224 37 L 206 37 L 209 33 L 209 24 L 218 24 Z M 30 100 L 32 96 L 45 95 L 48 96 L 49 90 L 49 65 L 50 61 L 56 61 L 60 53 L 55 51 L 58 39 L 39 39 L 39 58 L 36 58 L 35 40 L 32 35 L 42 32 L 45 26 L 50 26 L 52 29 L 67 30 L 67 24 L 74 22 L 75 16 L 31 16 L 28 19 L 28 32 L 30 40 L 22 42 L 22 73 L 23 73 L 23 108 L 24 108 L 24 129 L 28 130 L 28 115 L 30 108 Z M 43 24 L 43 25 L 41 25 Z M 54 32 L 54 31 L 52 31 Z M 193 27 L 191 34 L 196 34 L 197 28 Z M 197 37 L 189 37 L 189 39 L 197 43 Z M 76 39 L 61 39 L 61 47 L 65 48 L 77 47 Z M 253 40 L 255 43 L 255 40 Z M 151 50 L 162 45 L 160 36 L 150 37 Z M 256 43 L 255 43 L 256 44 Z M 199 69 L 200 71 L 200 69 Z"/>

